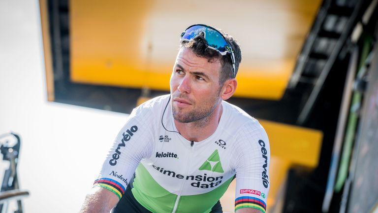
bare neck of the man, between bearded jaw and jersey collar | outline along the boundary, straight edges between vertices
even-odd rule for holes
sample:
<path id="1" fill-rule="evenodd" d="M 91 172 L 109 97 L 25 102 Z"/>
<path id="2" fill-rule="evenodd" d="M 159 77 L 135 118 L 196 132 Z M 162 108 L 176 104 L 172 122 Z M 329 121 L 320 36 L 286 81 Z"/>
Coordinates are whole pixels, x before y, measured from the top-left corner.
<path id="1" fill-rule="evenodd" d="M 221 120 L 223 106 L 221 102 L 207 117 L 190 123 L 180 123 L 174 120 L 179 133 L 188 141 L 200 142 L 210 137 L 216 130 Z"/>

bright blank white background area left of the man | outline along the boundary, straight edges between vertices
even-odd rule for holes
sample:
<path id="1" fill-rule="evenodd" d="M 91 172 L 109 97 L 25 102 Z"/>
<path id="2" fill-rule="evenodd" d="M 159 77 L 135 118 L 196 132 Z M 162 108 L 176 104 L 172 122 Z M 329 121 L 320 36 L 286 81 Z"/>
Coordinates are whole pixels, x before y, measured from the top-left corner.
<path id="1" fill-rule="evenodd" d="M 0 0 L 0 134 L 22 137 L 24 210 L 74 213 L 127 115 L 48 103 L 42 54 L 38 1 Z"/>

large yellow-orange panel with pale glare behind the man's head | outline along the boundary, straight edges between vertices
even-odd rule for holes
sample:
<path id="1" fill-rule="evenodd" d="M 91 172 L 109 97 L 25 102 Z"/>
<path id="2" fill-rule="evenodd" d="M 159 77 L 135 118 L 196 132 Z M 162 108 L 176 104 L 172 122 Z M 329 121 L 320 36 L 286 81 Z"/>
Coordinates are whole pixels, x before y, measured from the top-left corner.
<path id="1" fill-rule="evenodd" d="M 279 100 L 320 2 L 235 0 L 231 8 L 222 0 L 186 5 L 176 0 L 71 0 L 70 77 L 87 84 L 169 91 L 180 33 L 205 23 L 241 44 L 235 96 Z"/>

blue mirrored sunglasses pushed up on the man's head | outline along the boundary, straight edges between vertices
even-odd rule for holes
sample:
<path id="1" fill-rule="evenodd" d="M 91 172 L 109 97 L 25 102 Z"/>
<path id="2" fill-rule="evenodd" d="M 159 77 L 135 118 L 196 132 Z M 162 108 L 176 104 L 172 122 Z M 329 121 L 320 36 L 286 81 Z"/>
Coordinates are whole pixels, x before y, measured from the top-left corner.
<path id="1" fill-rule="evenodd" d="M 207 25 L 203 24 L 195 24 L 188 27 L 182 34 L 180 41 L 189 41 L 193 39 L 195 36 L 198 36 L 201 32 L 204 33 L 204 37 L 208 43 L 208 47 L 210 49 L 216 50 L 221 55 L 226 55 L 227 53 L 231 56 L 232 67 L 233 67 L 233 75 L 235 77 L 235 55 L 234 51 L 232 50 L 231 44 L 228 43 L 226 38 L 215 28 L 212 28 Z"/>

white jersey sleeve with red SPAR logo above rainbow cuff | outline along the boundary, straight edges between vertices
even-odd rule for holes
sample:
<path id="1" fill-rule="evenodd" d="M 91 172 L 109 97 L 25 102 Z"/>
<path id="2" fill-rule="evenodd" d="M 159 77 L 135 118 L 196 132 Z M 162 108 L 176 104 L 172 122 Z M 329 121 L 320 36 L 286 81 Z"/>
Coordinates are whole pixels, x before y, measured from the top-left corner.
<path id="1" fill-rule="evenodd" d="M 270 185 L 270 146 L 268 136 L 257 120 L 248 122 L 240 129 L 234 156 L 235 211 L 255 208 L 265 213 Z"/>

